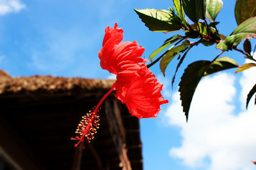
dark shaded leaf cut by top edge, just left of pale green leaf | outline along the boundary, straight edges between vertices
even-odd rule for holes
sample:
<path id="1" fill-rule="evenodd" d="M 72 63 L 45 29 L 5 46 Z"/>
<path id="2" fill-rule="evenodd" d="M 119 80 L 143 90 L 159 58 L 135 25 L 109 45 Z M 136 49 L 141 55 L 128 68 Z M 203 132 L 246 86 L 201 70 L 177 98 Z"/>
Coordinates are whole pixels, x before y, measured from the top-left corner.
<path id="1" fill-rule="evenodd" d="M 182 0 L 182 6 L 186 15 L 193 22 L 205 18 L 205 0 Z"/>

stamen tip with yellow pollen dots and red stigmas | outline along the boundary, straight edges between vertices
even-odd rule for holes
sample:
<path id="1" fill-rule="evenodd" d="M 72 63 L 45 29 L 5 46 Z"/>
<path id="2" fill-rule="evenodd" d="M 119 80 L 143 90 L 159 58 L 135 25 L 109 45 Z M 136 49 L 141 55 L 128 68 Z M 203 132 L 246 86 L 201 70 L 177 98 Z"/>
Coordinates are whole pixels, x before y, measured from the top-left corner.
<path id="1" fill-rule="evenodd" d="M 79 143 L 82 143 L 83 149 L 84 147 L 84 138 L 88 140 L 90 143 L 90 140 L 94 138 L 94 134 L 97 133 L 97 129 L 99 129 L 99 109 L 94 109 L 93 111 L 88 111 L 85 116 L 82 117 L 82 120 L 79 122 L 77 129 L 76 129 L 76 138 L 71 138 L 71 140 L 77 140 L 76 147 L 79 145 Z"/>

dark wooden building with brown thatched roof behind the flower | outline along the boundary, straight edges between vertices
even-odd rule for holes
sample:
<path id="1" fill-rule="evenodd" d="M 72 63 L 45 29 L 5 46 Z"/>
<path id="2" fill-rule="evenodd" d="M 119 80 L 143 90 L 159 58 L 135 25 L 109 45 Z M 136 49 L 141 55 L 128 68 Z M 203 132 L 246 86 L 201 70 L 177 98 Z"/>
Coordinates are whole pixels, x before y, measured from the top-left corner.
<path id="1" fill-rule="evenodd" d="M 0 70 L 0 169 L 143 169 L 139 120 L 114 94 L 102 104 L 95 139 L 84 150 L 70 140 L 113 82 Z"/>

